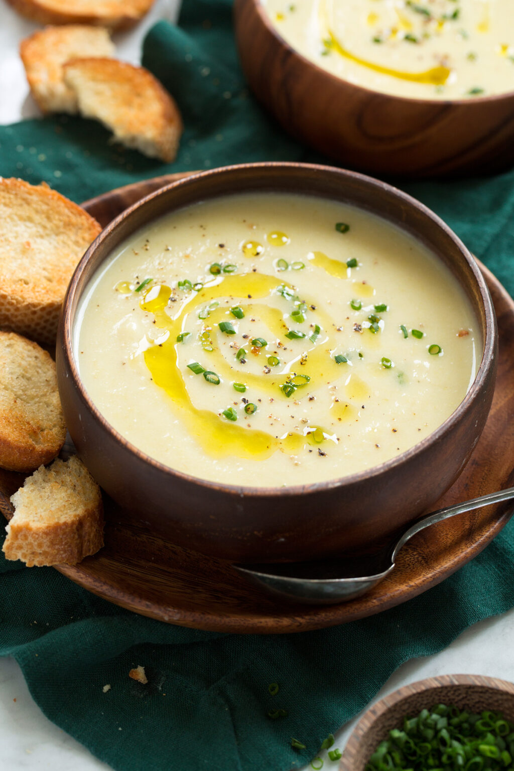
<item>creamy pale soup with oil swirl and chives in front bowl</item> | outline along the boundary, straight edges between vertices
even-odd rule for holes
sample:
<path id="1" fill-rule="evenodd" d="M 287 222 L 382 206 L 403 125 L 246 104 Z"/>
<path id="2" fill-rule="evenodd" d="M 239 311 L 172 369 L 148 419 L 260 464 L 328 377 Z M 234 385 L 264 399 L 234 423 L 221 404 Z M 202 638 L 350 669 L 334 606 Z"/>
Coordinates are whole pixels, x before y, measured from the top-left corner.
<path id="1" fill-rule="evenodd" d="M 74 328 L 89 396 L 129 442 L 252 487 L 335 480 L 418 443 L 462 402 L 481 346 L 427 248 L 293 194 L 222 197 L 139 231 Z"/>

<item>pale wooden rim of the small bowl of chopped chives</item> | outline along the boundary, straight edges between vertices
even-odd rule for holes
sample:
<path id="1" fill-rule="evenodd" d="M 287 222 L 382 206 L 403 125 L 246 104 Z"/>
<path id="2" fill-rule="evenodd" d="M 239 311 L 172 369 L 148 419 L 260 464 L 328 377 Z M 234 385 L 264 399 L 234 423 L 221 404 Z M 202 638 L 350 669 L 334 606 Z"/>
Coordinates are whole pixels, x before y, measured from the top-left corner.
<path id="1" fill-rule="evenodd" d="M 371 727 L 375 725 L 375 722 L 381 719 L 392 707 L 401 704 L 401 702 L 418 693 L 429 693 L 441 688 L 455 688 L 455 685 L 473 685 L 475 688 L 508 693 L 512 696 L 512 701 L 514 702 L 514 682 L 503 680 L 502 678 L 489 677 L 489 675 L 435 675 L 434 677 L 410 682 L 407 685 L 401 685 L 400 688 L 368 706 L 368 709 L 366 709 L 364 715 L 361 716 L 350 736 L 348 736 L 339 771 L 355 771 L 354 756 L 358 752 L 362 740 Z"/>

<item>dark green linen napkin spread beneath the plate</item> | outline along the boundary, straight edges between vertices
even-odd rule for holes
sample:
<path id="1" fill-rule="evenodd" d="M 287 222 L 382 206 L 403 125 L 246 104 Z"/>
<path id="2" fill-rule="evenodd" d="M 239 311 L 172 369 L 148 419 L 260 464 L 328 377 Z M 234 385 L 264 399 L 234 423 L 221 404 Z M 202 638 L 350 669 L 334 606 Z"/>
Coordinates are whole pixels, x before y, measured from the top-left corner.
<path id="1" fill-rule="evenodd" d="M 143 63 L 183 112 L 175 163 L 120 149 L 98 124 L 60 116 L 0 127 L 0 173 L 46 180 L 80 201 L 170 171 L 314 160 L 248 95 L 229 0 L 184 0 L 179 27 L 161 22 L 149 32 Z M 514 171 L 402 187 L 435 209 L 514 293 Z M 165 625 L 102 601 L 51 568 L 29 569 L 3 555 L 0 581 L 0 655 L 16 658 L 45 715 L 114 769 L 287 771 L 313 757 L 401 663 L 445 648 L 469 625 L 514 605 L 514 523 L 407 604 L 301 635 Z M 148 685 L 129 679 L 136 665 L 145 666 Z M 271 682 L 277 695 L 268 692 Z M 111 688 L 103 692 L 104 685 Z M 269 719 L 274 709 L 287 716 Z M 307 749 L 292 749 L 293 736 Z"/>

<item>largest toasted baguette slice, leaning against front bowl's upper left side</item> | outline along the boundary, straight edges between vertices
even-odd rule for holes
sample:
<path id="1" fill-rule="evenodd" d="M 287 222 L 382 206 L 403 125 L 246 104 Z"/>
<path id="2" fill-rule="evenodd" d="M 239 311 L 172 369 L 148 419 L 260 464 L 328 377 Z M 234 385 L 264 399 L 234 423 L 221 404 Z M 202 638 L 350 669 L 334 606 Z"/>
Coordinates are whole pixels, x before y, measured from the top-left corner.
<path id="1" fill-rule="evenodd" d="M 100 230 L 47 185 L 0 177 L 0 327 L 54 344 L 69 279 Z"/>

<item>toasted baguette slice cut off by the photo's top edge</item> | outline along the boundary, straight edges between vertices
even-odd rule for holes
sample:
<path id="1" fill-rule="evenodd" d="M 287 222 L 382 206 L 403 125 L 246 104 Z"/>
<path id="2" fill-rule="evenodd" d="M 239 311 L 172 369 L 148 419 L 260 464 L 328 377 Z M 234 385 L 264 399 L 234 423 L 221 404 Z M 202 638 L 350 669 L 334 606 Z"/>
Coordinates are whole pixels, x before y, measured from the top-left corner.
<path id="1" fill-rule="evenodd" d="M 153 0 L 8 0 L 22 16 L 39 24 L 93 24 L 129 27 L 149 11 Z"/>

